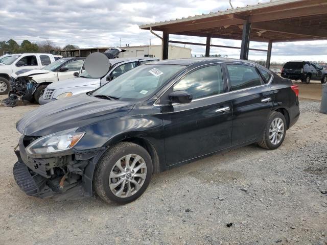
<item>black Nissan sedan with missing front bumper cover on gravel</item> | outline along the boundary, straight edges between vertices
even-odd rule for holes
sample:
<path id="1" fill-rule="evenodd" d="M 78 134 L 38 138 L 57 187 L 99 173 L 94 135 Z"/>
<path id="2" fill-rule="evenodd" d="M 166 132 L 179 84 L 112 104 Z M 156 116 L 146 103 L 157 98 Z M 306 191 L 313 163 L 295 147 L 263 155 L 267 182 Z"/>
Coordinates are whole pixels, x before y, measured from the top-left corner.
<path id="1" fill-rule="evenodd" d="M 20 119 L 14 177 L 35 197 L 131 202 L 154 173 L 255 142 L 278 148 L 298 117 L 298 87 L 258 64 L 152 62 Z"/>

